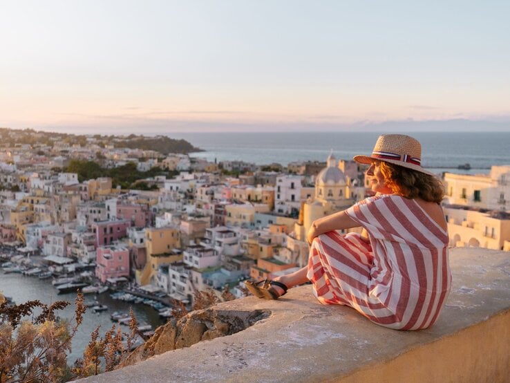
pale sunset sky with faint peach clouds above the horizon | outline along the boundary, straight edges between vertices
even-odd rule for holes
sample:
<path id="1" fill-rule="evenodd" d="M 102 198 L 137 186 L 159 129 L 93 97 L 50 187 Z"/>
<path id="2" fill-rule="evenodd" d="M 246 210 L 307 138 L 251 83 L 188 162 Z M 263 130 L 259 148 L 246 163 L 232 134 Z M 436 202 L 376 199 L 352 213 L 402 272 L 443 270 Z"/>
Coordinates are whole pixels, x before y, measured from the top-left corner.
<path id="1" fill-rule="evenodd" d="M 0 0 L 0 127 L 510 131 L 509 19 L 490 0 Z"/>

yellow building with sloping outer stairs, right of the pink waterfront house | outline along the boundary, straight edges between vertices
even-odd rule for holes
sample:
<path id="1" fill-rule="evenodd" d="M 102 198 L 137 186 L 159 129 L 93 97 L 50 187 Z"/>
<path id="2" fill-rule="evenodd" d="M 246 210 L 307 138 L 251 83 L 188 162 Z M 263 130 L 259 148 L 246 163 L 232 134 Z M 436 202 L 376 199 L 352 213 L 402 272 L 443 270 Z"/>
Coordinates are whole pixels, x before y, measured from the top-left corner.
<path id="1" fill-rule="evenodd" d="M 160 265 L 182 261 L 182 252 L 176 251 L 180 247 L 180 233 L 176 227 L 147 228 L 145 247 L 147 263 L 143 270 L 136 273 L 137 283 L 142 286 L 156 284 L 155 276 Z"/>

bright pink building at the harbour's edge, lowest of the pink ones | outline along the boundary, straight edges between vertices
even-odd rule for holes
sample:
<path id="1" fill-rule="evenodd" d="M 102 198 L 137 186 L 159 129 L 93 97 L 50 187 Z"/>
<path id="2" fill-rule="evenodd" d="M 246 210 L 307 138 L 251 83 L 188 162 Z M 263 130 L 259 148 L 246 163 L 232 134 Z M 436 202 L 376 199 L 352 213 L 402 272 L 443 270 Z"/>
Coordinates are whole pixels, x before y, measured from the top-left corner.
<path id="1" fill-rule="evenodd" d="M 102 283 L 108 278 L 129 277 L 129 250 L 124 246 L 101 246 L 96 250 L 95 276 Z"/>

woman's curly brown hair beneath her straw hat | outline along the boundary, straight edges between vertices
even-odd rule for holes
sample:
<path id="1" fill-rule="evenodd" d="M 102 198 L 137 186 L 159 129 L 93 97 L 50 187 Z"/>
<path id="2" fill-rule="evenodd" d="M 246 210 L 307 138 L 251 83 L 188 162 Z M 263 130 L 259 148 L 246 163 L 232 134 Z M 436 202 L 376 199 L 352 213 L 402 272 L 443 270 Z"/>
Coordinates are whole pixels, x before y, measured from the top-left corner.
<path id="1" fill-rule="evenodd" d="M 380 167 L 386 185 L 395 194 L 406 198 L 422 198 L 427 202 L 441 203 L 443 200 L 444 185 L 435 176 L 384 161 L 381 161 Z"/>

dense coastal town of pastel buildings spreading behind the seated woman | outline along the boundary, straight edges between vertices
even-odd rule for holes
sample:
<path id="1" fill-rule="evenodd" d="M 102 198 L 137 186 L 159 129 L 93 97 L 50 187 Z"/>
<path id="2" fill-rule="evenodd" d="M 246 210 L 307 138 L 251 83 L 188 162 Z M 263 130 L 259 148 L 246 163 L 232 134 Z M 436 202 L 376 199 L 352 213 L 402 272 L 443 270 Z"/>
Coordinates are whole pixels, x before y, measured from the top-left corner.
<path id="1" fill-rule="evenodd" d="M 3 272 L 48 279 L 59 293 L 111 289 L 163 316 L 172 301 L 191 306 L 196 291 L 243 297 L 246 279 L 301 268 L 312 222 L 371 195 L 363 165 L 334 153 L 255 165 L 192 158 L 198 149 L 187 142 L 156 148 L 163 136 L 147 144 L 30 129 L 1 135 Z M 451 247 L 510 251 L 510 165 L 442 177 Z"/>

